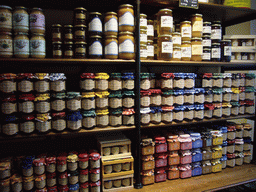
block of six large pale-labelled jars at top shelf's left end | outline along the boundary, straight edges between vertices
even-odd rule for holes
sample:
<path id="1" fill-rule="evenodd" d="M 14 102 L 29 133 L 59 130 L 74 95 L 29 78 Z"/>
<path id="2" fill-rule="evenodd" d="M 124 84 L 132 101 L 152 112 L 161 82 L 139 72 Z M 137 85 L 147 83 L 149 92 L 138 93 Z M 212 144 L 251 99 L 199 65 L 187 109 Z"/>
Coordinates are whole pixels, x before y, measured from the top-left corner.
<path id="1" fill-rule="evenodd" d="M 32 8 L 30 13 L 22 6 L 16 6 L 13 12 L 5 5 L 0 9 L 3 13 L 0 36 L 2 42 L 7 42 L 7 46 L 2 46 L 1 57 L 45 58 L 45 16 L 42 9 Z"/>

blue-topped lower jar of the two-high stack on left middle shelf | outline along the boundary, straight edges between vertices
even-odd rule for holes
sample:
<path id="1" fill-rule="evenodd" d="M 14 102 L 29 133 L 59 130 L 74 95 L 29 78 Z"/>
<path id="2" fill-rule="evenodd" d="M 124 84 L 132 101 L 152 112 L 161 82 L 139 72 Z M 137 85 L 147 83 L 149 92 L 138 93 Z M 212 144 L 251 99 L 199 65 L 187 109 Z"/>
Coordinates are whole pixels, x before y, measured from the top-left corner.
<path id="1" fill-rule="evenodd" d="M 79 111 L 67 115 L 67 128 L 71 131 L 79 131 L 82 128 L 82 114 Z"/>

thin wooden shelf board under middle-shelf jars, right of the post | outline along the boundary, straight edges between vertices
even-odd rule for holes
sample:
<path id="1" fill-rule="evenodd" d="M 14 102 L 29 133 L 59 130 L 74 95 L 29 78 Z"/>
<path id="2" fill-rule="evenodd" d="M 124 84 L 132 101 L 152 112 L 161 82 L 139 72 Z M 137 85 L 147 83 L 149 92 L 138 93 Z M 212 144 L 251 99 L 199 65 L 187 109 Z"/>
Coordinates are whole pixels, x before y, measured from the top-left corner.
<path id="1" fill-rule="evenodd" d="M 217 121 L 226 121 L 231 119 L 242 119 L 242 118 L 252 118 L 254 115 L 239 115 L 239 116 L 230 116 L 222 118 L 212 118 L 212 119 L 203 119 L 203 120 L 192 120 L 192 121 L 182 121 L 182 122 L 172 122 L 172 123 L 159 123 L 159 124 L 149 124 L 142 125 L 141 128 L 156 128 L 156 127 L 170 127 L 170 126 L 181 126 L 181 125 L 192 125 L 192 124 L 201 124 L 201 123 L 210 123 Z"/>

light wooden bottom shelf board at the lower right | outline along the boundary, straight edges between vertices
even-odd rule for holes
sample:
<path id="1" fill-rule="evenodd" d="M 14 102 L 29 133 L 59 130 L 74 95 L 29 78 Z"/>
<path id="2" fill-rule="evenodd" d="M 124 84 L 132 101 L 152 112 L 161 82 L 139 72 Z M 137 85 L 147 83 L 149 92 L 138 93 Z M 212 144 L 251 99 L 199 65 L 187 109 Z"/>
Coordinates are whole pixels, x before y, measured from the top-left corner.
<path id="1" fill-rule="evenodd" d="M 142 189 L 130 189 L 129 192 L 155 191 L 217 191 L 227 187 L 256 181 L 256 165 L 245 164 L 226 168 L 219 173 L 211 173 L 188 179 L 167 180 L 143 186 Z"/>

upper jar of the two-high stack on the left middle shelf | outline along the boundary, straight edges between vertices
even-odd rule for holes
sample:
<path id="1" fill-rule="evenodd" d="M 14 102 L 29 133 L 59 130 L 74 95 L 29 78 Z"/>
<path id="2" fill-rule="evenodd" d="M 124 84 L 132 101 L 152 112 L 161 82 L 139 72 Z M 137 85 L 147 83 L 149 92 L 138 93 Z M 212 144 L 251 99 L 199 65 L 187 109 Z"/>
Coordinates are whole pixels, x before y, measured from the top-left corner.
<path id="1" fill-rule="evenodd" d="M 71 112 L 81 110 L 81 95 L 80 92 L 67 92 L 67 109 Z"/>

